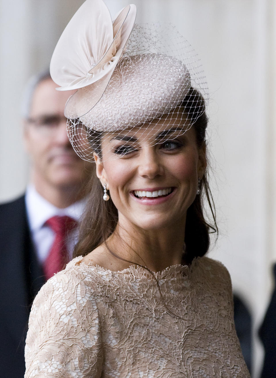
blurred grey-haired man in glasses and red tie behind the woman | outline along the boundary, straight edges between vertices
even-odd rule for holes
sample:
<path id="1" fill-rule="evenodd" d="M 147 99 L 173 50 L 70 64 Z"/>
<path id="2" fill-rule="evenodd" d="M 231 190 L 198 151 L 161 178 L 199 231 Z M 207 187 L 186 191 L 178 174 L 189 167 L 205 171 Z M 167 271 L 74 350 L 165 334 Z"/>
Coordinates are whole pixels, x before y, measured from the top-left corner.
<path id="1" fill-rule="evenodd" d="M 0 376 L 5 378 L 24 376 L 31 302 L 72 257 L 93 169 L 77 156 L 66 134 L 63 112 L 73 91 L 56 87 L 49 72 L 29 83 L 24 141 L 30 181 L 23 196 L 0 205 Z"/>

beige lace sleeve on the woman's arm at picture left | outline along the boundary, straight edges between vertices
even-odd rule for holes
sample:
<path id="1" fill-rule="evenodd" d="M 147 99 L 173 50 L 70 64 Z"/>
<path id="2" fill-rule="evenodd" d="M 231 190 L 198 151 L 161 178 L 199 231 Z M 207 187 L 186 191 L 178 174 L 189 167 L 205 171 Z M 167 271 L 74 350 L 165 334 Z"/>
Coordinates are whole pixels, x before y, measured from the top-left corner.
<path id="1" fill-rule="evenodd" d="M 85 275 L 56 274 L 37 294 L 26 338 L 25 378 L 101 376 L 100 320 Z"/>

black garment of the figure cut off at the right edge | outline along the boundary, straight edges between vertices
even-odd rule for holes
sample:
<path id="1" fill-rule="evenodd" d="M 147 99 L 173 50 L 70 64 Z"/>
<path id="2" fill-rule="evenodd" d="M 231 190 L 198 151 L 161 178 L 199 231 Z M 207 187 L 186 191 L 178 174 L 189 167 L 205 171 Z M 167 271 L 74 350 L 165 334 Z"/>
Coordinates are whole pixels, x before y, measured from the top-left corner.
<path id="1" fill-rule="evenodd" d="M 276 282 L 276 264 L 274 265 L 274 277 Z M 276 377 L 276 288 L 274 288 L 270 304 L 264 317 L 264 322 L 259 331 L 264 344 L 265 358 L 261 378 Z"/>

